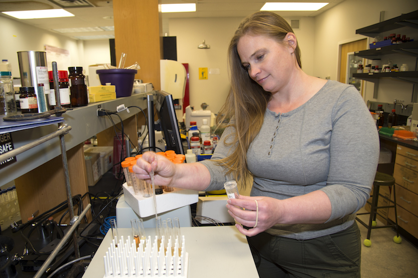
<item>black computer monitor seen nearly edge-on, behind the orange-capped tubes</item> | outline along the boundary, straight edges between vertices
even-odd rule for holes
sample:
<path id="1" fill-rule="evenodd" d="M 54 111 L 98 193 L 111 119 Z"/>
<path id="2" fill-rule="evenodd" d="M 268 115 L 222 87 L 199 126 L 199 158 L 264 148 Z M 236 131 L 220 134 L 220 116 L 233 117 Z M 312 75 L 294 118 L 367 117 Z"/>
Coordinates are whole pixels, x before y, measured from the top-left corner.
<path id="1" fill-rule="evenodd" d="M 156 92 L 154 101 L 167 149 L 184 154 L 172 95 L 159 90 Z"/>

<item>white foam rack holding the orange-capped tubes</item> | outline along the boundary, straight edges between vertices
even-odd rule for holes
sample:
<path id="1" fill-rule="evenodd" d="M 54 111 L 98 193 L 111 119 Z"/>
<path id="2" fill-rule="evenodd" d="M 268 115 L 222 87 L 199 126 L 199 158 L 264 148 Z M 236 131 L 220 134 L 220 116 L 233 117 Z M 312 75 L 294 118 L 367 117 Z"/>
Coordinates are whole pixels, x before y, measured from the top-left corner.
<path id="1" fill-rule="evenodd" d="M 156 208 L 154 207 L 154 198 L 144 197 L 141 193 L 134 192 L 133 187 L 128 187 L 127 183 L 123 184 L 123 193 L 125 201 L 140 217 L 148 217 L 155 213 L 163 213 L 185 205 L 197 203 L 199 193 L 192 189 L 174 188 L 173 191 L 164 191 L 162 194 L 155 195 Z"/>

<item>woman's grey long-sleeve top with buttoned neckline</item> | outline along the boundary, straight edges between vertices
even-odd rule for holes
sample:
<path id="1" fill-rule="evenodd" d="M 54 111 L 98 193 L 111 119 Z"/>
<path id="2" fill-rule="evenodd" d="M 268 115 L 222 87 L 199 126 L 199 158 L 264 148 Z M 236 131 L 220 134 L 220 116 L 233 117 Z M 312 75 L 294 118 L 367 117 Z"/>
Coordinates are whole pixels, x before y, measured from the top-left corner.
<path id="1" fill-rule="evenodd" d="M 231 153 L 224 139 L 212 159 Z M 369 197 L 379 155 L 376 125 L 358 91 L 329 80 L 296 109 L 275 113 L 266 109 L 259 134 L 247 151 L 254 176 L 252 196 L 285 199 L 324 191 L 331 201 L 331 216 L 323 224 L 277 224 L 267 232 L 296 239 L 332 234 L 349 227 Z M 212 160 L 206 190 L 223 188 L 231 177 Z"/>

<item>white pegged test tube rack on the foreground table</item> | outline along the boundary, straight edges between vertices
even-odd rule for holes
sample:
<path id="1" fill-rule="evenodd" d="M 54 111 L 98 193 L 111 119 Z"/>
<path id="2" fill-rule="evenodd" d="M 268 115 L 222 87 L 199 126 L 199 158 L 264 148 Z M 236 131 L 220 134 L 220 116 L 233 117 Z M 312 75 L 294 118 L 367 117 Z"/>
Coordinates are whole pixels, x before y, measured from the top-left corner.
<path id="1" fill-rule="evenodd" d="M 141 239 L 138 247 L 136 247 L 135 240 L 131 240 L 131 236 L 128 236 L 126 241 L 121 236 L 118 244 L 113 239 L 106 255 L 103 257 L 105 263 L 104 278 L 187 277 L 189 254 L 186 252 L 184 235 L 180 241 L 181 243 L 179 243 L 179 238 L 176 237 L 172 254 L 171 236 L 167 248 L 164 246 L 164 236 L 161 239 L 161 244 L 158 243 L 157 236 L 153 241 L 151 236 L 148 236 L 147 239 Z M 168 251 L 165 251 L 166 249 Z"/>

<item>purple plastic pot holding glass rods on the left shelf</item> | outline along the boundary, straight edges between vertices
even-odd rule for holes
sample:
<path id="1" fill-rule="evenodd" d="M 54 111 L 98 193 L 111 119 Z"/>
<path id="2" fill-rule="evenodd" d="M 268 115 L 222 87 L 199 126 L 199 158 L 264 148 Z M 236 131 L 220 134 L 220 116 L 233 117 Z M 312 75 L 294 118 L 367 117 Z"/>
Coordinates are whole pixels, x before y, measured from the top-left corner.
<path id="1" fill-rule="evenodd" d="M 132 88 L 134 86 L 136 69 L 126 68 L 111 68 L 111 69 L 97 69 L 99 79 L 102 85 L 111 83 L 116 86 L 116 97 L 131 96 Z"/>

